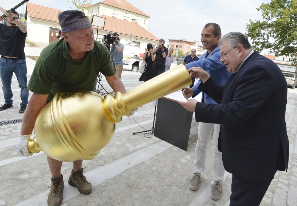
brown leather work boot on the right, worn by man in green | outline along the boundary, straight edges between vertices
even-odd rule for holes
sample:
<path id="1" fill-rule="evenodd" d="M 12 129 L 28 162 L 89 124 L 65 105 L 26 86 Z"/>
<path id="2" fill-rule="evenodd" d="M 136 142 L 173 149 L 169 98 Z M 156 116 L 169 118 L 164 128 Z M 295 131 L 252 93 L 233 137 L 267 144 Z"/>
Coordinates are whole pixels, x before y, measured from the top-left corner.
<path id="1" fill-rule="evenodd" d="M 77 187 L 78 191 L 82 194 L 90 194 L 93 190 L 92 184 L 87 181 L 86 177 L 83 175 L 83 171 L 86 171 L 87 167 L 84 169 L 74 172 L 71 171 L 68 183 L 73 186 Z"/>

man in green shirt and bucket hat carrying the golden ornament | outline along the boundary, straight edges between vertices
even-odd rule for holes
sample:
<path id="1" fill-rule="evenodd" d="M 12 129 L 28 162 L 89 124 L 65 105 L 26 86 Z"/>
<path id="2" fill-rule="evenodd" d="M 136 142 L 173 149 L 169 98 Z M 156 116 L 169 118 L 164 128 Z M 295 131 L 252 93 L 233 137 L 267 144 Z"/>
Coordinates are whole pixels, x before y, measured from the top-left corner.
<path id="1" fill-rule="evenodd" d="M 41 53 L 30 78 L 28 89 L 33 92 L 23 117 L 18 145 L 19 156 L 31 156 L 27 142 L 32 134 L 36 117 L 43 106 L 57 92 L 75 90 L 94 91 L 99 72 L 104 74 L 114 92 L 125 93 L 125 87 L 115 75 L 108 49 L 94 41 L 94 29 L 81 11 L 68 10 L 58 14 L 63 36 L 51 43 Z M 47 157 L 52 174 L 48 205 L 60 205 L 63 199 L 62 161 Z M 86 180 L 82 169 L 83 160 L 73 162 L 68 183 L 83 194 L 90 194 L 92 185 Z"/>

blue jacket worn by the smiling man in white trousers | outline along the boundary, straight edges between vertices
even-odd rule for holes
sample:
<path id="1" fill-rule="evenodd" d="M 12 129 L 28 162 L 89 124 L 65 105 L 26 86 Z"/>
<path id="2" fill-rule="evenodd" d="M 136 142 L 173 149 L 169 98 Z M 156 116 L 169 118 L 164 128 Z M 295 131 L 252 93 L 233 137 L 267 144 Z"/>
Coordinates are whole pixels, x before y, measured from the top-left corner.
<path id="1" fill-rule="evenodd" d="M 192 67 L 201 67 L 207 73 L 210 74 L 211 78 L 220 86 L 225 85 L 227 79 L 231 75 L 231 72 L 227 71 L 226 66 L 220 62 L 221 54 L 220 54 L 220 46 L 217 46 L 207 57 L 205 52 L 203 55 L 200 56 L 200 59 L 195 62 L 190 62 L 189 64 L 185 64 L 187 69 Z M 200 92 L 198 86 L 201 83 L 201 79 L 198 80 L 197 84 L 193 86 L 195 94 L 193 97 L 197 96 Z M 203 96 L 205 96 L 205 100 L 207 104 L 217 104 L 213 99 L 211 99 L 207 94 L 202 92 L 202 100 Z"/>

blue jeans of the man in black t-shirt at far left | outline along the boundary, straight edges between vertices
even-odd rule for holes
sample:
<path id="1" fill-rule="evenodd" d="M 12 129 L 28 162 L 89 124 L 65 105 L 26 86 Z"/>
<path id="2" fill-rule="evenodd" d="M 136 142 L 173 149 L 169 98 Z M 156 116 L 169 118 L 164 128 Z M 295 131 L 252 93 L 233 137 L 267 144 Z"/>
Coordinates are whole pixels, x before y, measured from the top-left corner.
<path id="1" fill-rule="evenodd" d="M 27 65 L 26 59 L 10 60 L 0 58 L 0 76 L 2 82 L 2 91 L 5 103 L 12 104 L 11 79 L 15 73 L 16 79 L 21 88 L 21 106 L 28 104 L 29 90 L 27 89 Z"/>

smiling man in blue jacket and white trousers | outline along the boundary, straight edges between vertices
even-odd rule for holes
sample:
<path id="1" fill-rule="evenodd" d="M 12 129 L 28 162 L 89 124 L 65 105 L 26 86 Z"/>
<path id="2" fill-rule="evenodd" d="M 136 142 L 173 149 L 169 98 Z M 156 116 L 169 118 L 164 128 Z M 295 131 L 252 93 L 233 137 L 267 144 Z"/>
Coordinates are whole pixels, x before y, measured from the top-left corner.
<path id="1" fill-rule="evenodd" d="M 187 69 L 192 67 L 201 67 L 210 74 L 212 79 L 217 82 L 220 86 L 224 85 L 230 76 L 231 73 L 227 71 L 227 68 L 223 63 L 220 63 L 220 46 L 218 46 L 218 42 L 221 38 L 221 29 L 220 26 L 216 23 L 208 23 L 204 26 L 201 32 L 201 42 L 203 49 L 207 49 L 203 55 L 201 55 L 198 61 L 190 62 L 185 64 Z M 199 79 L 198 83 L 193 86 L 193 88 L 185 87 L 182 91 L 184 97 L 186 99 L 190 97 L 195 97 L 198 95 L 201 90 L 198 89 L 198 86 L 201 83 L 201 79 Z M 216 104 L 214 100 L 212 100 L 209 96 L 202 92 L 202 100 L 201 102 L 206 104 Z M 224 165 L 222 161 L 222 153 L 218 150 L 218 137 L 220 132 L 220 124 L 213 123 L 204 123 L 200 122 L 198 126 L 198 134 L 197 134 L 197 144 L 195 147 L 195 160 L 194 160 L 194 175 L 189 180 L 189 187 L 191 190 L 196 191 L 199 186 L 199 180 L 201 176 L 201 172 L 204 170 L 205 166 L 205 158 L 206 158 L 206 147 L 207 143 L 210 140 L 210 135 L 213 130 L 213 148 L 214 148 L 214 162 L 213 162 L 213 170 L 214 184 L 211 186 L 211 195 L 210 197 L 213 200 L 220 199 L 222 195 L 222 182 L 224 179 Z"/>

